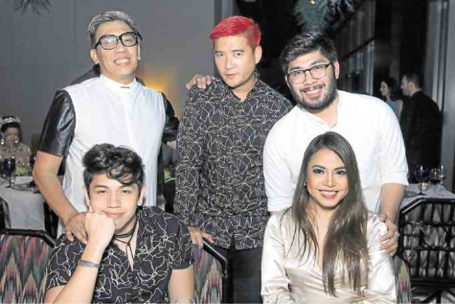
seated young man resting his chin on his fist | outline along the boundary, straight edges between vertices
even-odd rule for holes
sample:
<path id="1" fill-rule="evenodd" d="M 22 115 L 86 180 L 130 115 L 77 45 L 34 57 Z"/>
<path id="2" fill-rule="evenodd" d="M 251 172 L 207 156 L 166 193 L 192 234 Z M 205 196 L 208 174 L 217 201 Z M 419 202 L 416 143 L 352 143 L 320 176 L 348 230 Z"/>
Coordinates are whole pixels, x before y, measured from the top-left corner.
<path id="1" fill-rule="evenodd" d="M 158 207 L 139 207 L 141 158 L 102 144 L 85 154 L 83 165 L 88 243 L 60 236 L 48 264 L 45 302 L 193 303 L 188 228 Z"/>

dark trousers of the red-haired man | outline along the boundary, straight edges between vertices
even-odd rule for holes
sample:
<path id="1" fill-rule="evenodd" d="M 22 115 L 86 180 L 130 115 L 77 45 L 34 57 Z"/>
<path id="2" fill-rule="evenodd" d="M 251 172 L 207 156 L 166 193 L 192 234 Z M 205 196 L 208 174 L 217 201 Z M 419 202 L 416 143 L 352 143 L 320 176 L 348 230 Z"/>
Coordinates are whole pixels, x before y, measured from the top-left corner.
<path id="1" fill-rule="evenodd" d="M 262 303 L 262 247 L 245 250 L 215 247 L 231 261 L 234 303 Z"/>

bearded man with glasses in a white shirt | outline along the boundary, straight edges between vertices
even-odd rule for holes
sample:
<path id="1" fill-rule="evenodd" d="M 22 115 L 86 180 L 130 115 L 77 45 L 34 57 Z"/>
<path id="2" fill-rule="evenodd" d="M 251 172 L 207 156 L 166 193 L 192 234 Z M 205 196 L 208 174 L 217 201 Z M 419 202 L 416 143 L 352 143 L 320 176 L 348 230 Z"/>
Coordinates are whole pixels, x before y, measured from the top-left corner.
<path id="1" fill-rule="evenodd" d="M 398 237 L 393 221 L 407 185 L 405 147 L 396 116 L 379 99 L 337 90 L 336 48 L 321 34 L 297 35 L 280 59 L 297 105 L 274 125 L 265 142 L 268 210 L 290 207 L 308 143 L 319 134 L 337 132 L 354 148 L 365 205 L 387 215 L 383 249 L 394 254 Z"/>

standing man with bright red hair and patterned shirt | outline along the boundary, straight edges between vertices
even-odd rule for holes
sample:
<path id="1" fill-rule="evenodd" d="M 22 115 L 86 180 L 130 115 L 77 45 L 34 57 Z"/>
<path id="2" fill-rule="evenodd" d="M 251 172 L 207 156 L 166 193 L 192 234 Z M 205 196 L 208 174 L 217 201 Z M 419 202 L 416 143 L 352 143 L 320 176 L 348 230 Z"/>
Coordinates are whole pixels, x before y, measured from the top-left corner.
<path id="1" fill-rule="evenodd" d="M 221 79 L 188 92 L 177 134 L 175 210 L 193 243 L 202 246 L 205 237 L 232 259 L 234 303 L 260 303 L 268 219 L 262 152 L 292 105 L 258 78 L 261 32 L 252 19 L 228 17 L 210 39 Z"/>

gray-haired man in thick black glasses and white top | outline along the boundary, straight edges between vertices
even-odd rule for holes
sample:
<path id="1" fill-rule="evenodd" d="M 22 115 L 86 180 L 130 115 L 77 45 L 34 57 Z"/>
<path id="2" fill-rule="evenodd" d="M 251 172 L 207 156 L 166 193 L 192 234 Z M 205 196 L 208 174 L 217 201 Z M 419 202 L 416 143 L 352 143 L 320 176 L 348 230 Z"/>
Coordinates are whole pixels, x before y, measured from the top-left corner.
<path id="1" fill-rule="evenodd" d="M 57 91 L 45 119 L 34 181 L 70 239 L 86 243 L 83 154 L 94 144 L 126 145 L 145 164 L 145 205 L 155 205 L 156 160 L 165 123 L 163 94 L 136 81 L 141 34 L 125 12 L 102 12 L 88 26 L 99 77 Z M 57 179 L 65 159 L 63 186 Z M 59 233 L 62 231 L 59 227 Z"/>

